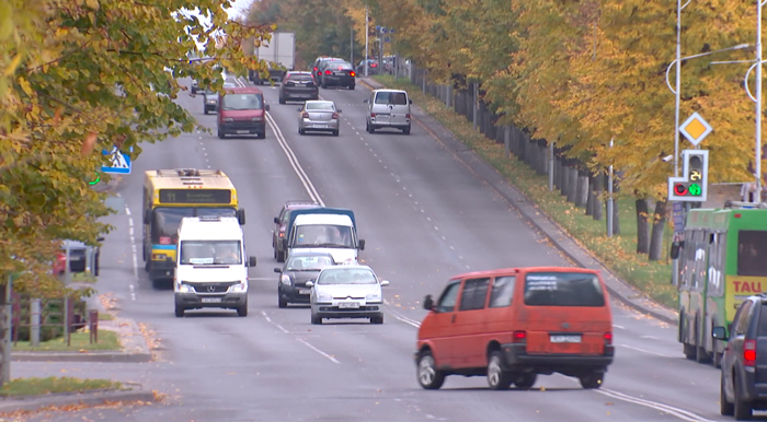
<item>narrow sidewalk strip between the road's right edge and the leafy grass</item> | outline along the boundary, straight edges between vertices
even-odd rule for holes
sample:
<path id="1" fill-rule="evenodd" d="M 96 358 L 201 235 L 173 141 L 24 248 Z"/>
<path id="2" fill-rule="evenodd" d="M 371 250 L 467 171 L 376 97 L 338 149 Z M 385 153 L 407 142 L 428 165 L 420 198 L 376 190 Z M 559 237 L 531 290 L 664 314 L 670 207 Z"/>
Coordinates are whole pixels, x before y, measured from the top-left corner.
<path id="1" fill-rule="evenodd" d="M 386 87 L 370 78 L 359 78 L 358 81 L 370 90 Z M 618 279 L 595 256 L 570 238 L 559 224 L 536 207 L 534 201 L 510 184 L 492 165 L 485 163 L 478 154 L 469 150 L 463 142 L 442 126 L 439 121 L 416 105 L 412 106 L 411 112 L 415 124 L 421 126 L 445 150 L 469 167 L 477 176 L 484 179 L 575 266 L 599 270 L 613 297 L 642 314 L 650 315 L 667 324 L 678 324 L 678 315 L 674 309 L 666 308 L 651 301 L 629 283 Z"/>

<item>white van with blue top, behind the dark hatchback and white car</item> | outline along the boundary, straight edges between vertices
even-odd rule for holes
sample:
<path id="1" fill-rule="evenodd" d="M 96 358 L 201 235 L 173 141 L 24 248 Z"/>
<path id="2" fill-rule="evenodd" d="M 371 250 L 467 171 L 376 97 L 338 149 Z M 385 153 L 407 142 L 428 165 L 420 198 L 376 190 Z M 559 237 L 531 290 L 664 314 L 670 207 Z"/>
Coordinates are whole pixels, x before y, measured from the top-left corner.
<path id="1" fill-rule="evenodd" d="M 293 222 L 288 254 L 294 250 L 327 251 L 335 263 L 357 263 L 357 250 L 365 241 L 357 238 L 354 221 L 345 214 L 299 214 Z"/>

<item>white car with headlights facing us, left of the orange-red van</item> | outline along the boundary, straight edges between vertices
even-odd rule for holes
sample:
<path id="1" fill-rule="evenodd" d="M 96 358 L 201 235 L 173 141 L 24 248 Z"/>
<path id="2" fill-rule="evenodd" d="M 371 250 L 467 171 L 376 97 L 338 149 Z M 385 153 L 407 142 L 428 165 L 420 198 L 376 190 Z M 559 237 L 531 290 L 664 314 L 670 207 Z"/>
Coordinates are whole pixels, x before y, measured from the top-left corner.
<path id="1" fill-rule="evenodd" d="M 389 282 L 379 281 L 368 266 L 325 267 L 306 285 L 311 288 L 311 324 L 322 324 L 322 318 L 370 318 L 371 324 L 384 324 L 381 288 Z"/>

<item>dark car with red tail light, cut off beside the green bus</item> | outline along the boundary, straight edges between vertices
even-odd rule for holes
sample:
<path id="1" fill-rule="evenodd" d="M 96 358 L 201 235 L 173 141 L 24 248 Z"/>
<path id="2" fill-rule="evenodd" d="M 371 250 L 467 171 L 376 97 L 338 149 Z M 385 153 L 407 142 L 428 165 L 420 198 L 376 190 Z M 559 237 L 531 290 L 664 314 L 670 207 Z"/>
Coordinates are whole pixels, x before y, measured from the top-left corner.
<path id="1" fill-rule="evenodd" d="M 747 421 L 754 410 L 767 410 L 767 294 L 747 297 L 726 327 L 711 335 L 726 341 L 721 362 L 720 412 Z"/>

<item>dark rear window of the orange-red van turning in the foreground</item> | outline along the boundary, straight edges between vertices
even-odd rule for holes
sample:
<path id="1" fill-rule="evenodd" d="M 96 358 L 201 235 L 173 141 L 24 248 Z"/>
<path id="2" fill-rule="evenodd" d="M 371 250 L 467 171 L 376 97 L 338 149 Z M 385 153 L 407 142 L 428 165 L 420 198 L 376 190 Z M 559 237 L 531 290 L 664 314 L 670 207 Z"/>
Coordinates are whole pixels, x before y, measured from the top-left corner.
<path id="1" fill-rule="evenodd" d="M 525 305 L 605 306 L 605 293 L 595 274 L 531 272 L 525 277 Z"/>

